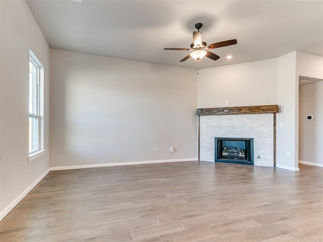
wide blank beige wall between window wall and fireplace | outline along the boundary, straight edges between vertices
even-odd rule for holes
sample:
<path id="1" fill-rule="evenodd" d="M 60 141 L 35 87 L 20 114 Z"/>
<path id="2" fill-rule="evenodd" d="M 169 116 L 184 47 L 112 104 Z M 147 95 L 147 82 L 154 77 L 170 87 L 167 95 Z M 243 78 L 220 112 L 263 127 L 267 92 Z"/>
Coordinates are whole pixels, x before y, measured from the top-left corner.
<path id="1" fill-rule="evenodd" d="M 56 49 L 50 63 L 52 167 L 196 159 L 195 70 Z"/>

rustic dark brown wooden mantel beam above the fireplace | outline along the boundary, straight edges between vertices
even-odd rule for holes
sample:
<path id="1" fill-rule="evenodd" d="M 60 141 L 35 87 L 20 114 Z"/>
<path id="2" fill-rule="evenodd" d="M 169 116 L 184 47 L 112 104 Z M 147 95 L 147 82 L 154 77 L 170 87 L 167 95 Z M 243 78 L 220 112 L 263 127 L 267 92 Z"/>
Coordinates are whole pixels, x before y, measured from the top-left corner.
<path id="1" fill-rule="evenodd" d="M 240 106 L 240 107 L 212 107 L 198 108 L 196 114 L 223 115 L 223 114 L 252 114 L 252 113 L 277 113 L 278 105 Z"/>

